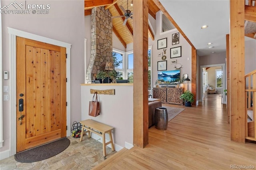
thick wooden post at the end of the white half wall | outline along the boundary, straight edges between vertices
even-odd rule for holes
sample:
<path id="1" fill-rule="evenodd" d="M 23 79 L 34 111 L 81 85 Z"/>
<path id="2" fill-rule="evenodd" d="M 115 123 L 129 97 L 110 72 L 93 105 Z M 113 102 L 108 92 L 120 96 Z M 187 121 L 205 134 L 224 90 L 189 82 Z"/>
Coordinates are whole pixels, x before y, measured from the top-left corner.
<path id="1" fill-rule="evenodd" d="M 148 4 L 134 0 L 133 7 L 133 144 L 148 144 Z"/>

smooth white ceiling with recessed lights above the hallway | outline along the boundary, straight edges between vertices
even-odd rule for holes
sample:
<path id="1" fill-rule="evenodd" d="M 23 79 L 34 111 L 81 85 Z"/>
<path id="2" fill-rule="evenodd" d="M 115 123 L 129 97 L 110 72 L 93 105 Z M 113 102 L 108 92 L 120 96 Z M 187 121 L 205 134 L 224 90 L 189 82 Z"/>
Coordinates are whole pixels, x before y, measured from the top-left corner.
<path id="1" fill-rule="evenodd" d="M 199 56 L 226 51 L 229 34 L 229 0 L 159 0 Z M 201 29 L 207 25 L 208 28 Z M 207 43 L 211 42 L 211 45 Z M 214 46 L 214 48 L 208 48 Z"/>

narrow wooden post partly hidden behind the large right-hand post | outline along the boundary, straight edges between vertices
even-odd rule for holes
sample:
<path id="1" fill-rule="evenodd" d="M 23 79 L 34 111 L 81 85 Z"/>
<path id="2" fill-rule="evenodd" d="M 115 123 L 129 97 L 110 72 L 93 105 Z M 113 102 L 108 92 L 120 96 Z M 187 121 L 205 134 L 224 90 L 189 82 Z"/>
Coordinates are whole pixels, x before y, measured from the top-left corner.
<path id="1" fill-rule="evenodd" d="M 229 66 L 229 34 L 226 35 L 226 67 L 227 67 L 227 116 L 230 123 L 230 66 Z"/>

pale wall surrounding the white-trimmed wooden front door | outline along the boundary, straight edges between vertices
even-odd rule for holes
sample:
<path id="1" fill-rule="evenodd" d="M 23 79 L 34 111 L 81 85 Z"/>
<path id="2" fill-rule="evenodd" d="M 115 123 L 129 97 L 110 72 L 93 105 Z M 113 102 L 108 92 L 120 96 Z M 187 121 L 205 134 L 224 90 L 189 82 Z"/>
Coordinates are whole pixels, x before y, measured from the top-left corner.
<path id="1" fill-rule="evenodd" d="M 8 5 L 10 0 L 1 0 Z M 17 1 L 24 2 L 24 1 Z M 71 123 L 81 119 L 80 83 L 84 82 L 84 1 L 31 0 L 27 4 L 50 4 L 49 14 L 2 14 L 2 68 L 10 71 L 7 27 L 72 44 L 71 46 Z M 1 80 L 10 86 L 10 79 Z M 1 87 L 2 88 L 2 87 Z M 8 93 L 6 93 L 8 94 Z M 3 102 L 4 143 L 0 153 L 10 149 L 10 102 Z"/>

